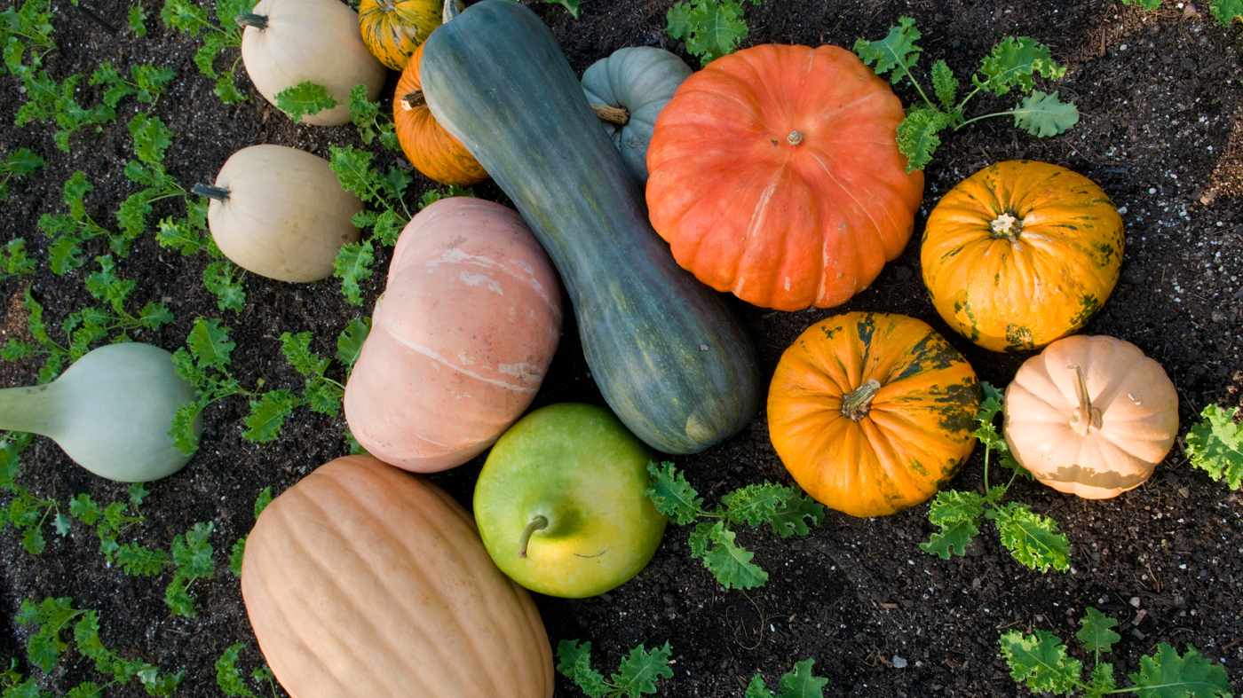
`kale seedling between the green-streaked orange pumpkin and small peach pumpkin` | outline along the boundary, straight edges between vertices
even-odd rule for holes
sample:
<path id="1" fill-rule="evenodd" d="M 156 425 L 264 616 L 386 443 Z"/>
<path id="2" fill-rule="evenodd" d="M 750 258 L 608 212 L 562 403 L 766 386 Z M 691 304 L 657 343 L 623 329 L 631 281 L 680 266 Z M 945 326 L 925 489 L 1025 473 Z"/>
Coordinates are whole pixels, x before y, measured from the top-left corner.
<path id="1" fill-rule="evenodd" d="M 1002 392 L 987 383 L 981 383 L 984 401 L 976 415 L 973 436 L 984 445 L 984 493 L 943 489 L 929 508 L 929 520 L 941 530 L 933 533 L 927 543 L 920 543 L 925 553 L 948 560 L 950 555 L 965 555 L 967 545 L 979 535 L 979 519 L 992 519 L 997 524 L 1002 545 L 1009 549 L 1016 560 L 1033 570 L 1048 571 L 1049 568 L 1065 571 L 1070 568 L 1070 543 L 1058 533 L 1058 523 L 1049 517 L 1037 514 L 1027 504 L 1009 502 L 1002 504 L 1006 492 L 1014 478 L 1032 476 L 1009 455 L 1006 440 L 997 433 L 993 420 L 1002 411 Z M 999 465 L 1011 471 L 1009 482 L 998 487 L 988 484 L 989 457 L 999 456 Z"/>

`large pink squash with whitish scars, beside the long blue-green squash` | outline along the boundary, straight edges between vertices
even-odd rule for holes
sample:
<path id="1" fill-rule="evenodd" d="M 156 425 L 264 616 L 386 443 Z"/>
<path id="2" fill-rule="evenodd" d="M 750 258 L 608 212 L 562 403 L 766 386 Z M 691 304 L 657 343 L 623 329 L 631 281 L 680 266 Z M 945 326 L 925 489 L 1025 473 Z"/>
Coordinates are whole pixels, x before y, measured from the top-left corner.
<path id="1" fill-rule="evenodd" d="M 377 458 L 436 472 L 481 453 L 531 404 L 561 338 L 561 284 L 515 211 L 443 199 L 401 231 L 346 420 Z"/>

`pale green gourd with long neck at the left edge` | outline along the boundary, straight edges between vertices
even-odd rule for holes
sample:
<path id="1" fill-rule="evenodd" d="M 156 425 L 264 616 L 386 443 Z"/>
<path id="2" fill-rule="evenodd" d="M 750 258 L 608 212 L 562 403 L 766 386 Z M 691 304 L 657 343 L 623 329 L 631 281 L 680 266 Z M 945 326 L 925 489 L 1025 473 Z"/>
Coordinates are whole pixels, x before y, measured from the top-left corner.
<path id="1" fill-rule="evenodd" d="M 0 390 L 0 428 L 46 436 L 99 477 L 150 482 L 190 461 L 168 432 L 177 409 L 194 400 L 168 351 L 109 344 L 47 385 Z M 199 433 L 201 421 L 194 428 Z"/>

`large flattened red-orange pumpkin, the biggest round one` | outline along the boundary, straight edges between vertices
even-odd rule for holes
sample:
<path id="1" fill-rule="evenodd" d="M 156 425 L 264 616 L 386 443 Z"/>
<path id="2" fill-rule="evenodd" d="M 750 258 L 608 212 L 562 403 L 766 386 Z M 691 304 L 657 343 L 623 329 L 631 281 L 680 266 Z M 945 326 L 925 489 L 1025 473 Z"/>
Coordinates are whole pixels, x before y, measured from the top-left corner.
<path id="1" fill-rule="evenodd" d="M 651 224 L 677 263 L 756 306 L 838 306 L 906 247 L 924 193 L 889 84 L 835 46 L 712 61 L 648 147 Z"/>

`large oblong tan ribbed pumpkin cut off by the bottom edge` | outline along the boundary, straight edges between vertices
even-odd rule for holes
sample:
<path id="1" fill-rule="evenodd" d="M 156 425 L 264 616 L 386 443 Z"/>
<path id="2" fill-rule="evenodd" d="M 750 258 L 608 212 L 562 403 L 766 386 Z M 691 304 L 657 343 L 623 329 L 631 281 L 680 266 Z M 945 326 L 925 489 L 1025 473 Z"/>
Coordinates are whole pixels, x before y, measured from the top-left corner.
<path id="1" fill-rule="evenodd" d="M 241 594 L 296 698 L 551 698 L 527 590 L 431 482 L 368 456 L 327 463 L 264 509 Z"/>

